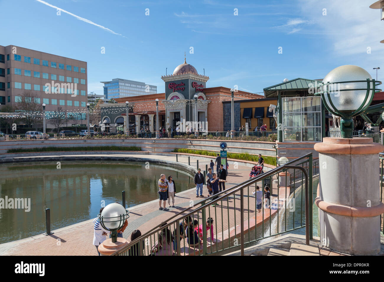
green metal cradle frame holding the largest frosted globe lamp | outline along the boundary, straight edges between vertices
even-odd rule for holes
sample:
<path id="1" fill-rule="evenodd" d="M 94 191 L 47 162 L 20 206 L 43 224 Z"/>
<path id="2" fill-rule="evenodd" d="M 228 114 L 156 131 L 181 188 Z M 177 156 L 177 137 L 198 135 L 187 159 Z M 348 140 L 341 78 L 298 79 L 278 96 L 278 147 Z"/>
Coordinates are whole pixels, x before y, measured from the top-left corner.
<path id="1" fill-rule="evenodd" d="M 328 112 L 331 114 L 334 114 L 336 116 L 341 117 L 340 120 L 340 131 L 341 131 L 341 137 L 343 138 L 353 138 L 353 129 L 354 129 L 354 123 L 352 117 L 361 114 L 368 108 L 368 106 L 371 104 L 374 94 L 371 96 L 369 99 L 369 102 L 367 103 L 367 106 L 364 106 L 366 102 L 368 101 L 368 96 L 370 91 L 374 91 L 376 93 L 377 91 L 381 91 L 381 89 L 377 89 L 377 86 L 381 84 L 381 81 L 375 81 L 374 79 L 366 79 L 366 80 L 352 80 L 352 81 L 340 81 L 340 82 L 335 82 L 338 84 L 341 83 L 351 83 L 351 82 L 367 82 L 367 87 L 366 88 L 356 88 L 356 89 L 339 89 L 338 91 L 358 91 L 358 90 L 366 90 L 366 95 L 364 97 L 364 101 L 362 104 L 359 106 L 358 109 L 352 111 L 352 112 L 347 112 L 347 111 L 340 111 L 337 110 L 336 107 L 334 106 L 331 96 L 330 96 L 330 89 L 329 89 L 329 81 L 327 83 L 322 83 L 320 86 L 320 89 L 323 89 L 323 91 L 316 92 L 314 96 L 319 96 L 321 95 L 321 99 L 323 100 L 324 106 L 327 108 Z M 371 82 L 374 88 L 371 88 Z M 324 86 L 326 86 L 326 89 L 324 90 Z M 335 92 L 335 91 L 332 91 Z M 325 96 L 325 93 L 327 96 Z M 325 97 L 328 98 L 329 104 L 325 101 Z"/>

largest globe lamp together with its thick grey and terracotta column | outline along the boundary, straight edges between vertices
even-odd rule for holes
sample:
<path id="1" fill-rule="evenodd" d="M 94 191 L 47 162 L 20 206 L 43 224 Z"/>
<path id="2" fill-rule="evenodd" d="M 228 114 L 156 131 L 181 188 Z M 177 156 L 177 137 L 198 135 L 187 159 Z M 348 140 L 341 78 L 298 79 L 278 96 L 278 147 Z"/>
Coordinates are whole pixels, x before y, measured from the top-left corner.
<path id="1" fill-rule="evenodd" d="M 325 76 L 321 91 L 315 94 L 321 95 L 331 114 L 341 117 L 341 138 L 324 137 L 314 145 L 322 164 L 315 200 L 320 240 L 324 246 L 348 254 L 380 252 L 378 225 L 384 204 L 376 188 L 377 157 L 384 146 L 373 143 L 372 138 L 353 138 L 352 120 L 371 104 L 375 86 L 380 84 L 358 66 L 339 66 Z M 356 173 L 361 167 L 362 175 Z"/>

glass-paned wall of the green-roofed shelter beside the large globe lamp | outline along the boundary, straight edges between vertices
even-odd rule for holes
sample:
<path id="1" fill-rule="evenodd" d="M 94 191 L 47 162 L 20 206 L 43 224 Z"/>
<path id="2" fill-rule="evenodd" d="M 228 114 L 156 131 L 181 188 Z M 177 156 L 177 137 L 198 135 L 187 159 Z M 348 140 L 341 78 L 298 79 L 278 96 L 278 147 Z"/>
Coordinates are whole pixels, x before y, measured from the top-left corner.
<path id="1" fill-rule="evenodd" d="M 321 141 L 321 98 L 283 98 L 283 140 Z"/>

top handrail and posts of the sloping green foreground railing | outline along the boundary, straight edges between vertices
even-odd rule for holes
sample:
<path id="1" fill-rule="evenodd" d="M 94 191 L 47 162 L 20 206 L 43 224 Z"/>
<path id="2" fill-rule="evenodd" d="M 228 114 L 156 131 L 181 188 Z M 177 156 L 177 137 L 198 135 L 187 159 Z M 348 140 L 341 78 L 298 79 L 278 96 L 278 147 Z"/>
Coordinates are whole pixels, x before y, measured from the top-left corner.
<path id="1" fill-rule="evenodd" d="M 171 224 L 178 223 L 183 218 L 187 218 L 191 214 L 194 214 L 194 213 L 197 213 L 199 211 L 202 211 L 203 209 L 207 208 L 210 204 L 214 204 L 214 203 L 217 203 L 218 201 L 222 201 L 224 198 L 227 198 L 228 196 L 233 195 L 233 194 L 235 194 L 238 191 L 240 191 L 241 195 L 243 195 L 243 188 L 245 188 L 247 186 L 250 186 L 252 184 L 255 184 L 258 181 L 263 180 L 264 178 L 271 177 L 271 176 L 275 175 L 276 173 L 278 173 L 278 172 L 280 172 L 282 170 L 289 169 L 289 168 L 299 169 L 305 175 L 305 183 L 306 183 L 306 194 L 305 194 L 306 222 L 305 222 L 305 224 L 306 224 L 306 244 L 308 245 L 309 244 L 309 238 L 310 238 L 310 231 L 309 231 L 309 223 L 310 223 L 309 222 L 309 187 L 308 187 L 308 177 L 309 176 L 308 176 L 308 173 L 306 172 L 305 168 L 300 167 L 298 165 L 292 165 L 292 164 L 297 162 L 297 161 L 299 161 L 299 160 L 301 160 L 301 159 L 303 159 L 303 158 L 307 158 L 307 157 L 310 157 L 310 156 L 312 156 L 312 153 L 307 153 L 306 155 L 303 155 L 303 156 L 301 156 L 299 158 L 296 158 L 295 160 L 292 160 L 292 161 L 290 161 L 290 162 L 288 162 L 288 163 L 286 163 L 284 165 L 276 167 L 273 170 L 270 170 L 268 172 L 262 173 L 261 175 L 258 175 L 255 178 L 252 178 L 250 180 L 246 180 L 246 181 L 244 181 L 244 182 L 242 182 L 240 184 L 237 184 L 237 185 L 235 185 L 235 186 L 233 186 L 233 187 L 231 187 L 231 188 L 229 188 L 227 190 L 224 190 L 224 191 L 222 191 L 220 193 L 217 193 L 217 194 L 215 194 L 215 196 L 216 195 L 220 195 L 220 194 L 221 195 L 217 196 L 217 198 L 215 200 L 205 199 L 204 201 L 202 201 L 202 202 L 204 202 L 203 204 L 202 204 L 202 202 L 197 203 L 197 204 L 202 204 L 199 208 L 194 209 L 192 211 L 189 211 L 191 208 L 197 206 L 197 204 L 193 204 L 189 208 L 186 208 L 183 211 L 180 211 L 179 213 L 171 216 L 166 221 L 163 221 L 162 223 L 157 224 L 156 227 L 154 227 L 151 230 L 147 231 L 145 234 L 142 234 L 140 237 L 136 238 L 134 241 L 129 242 L 129 244 L 127 244 L 124 248 L 122 248 L 119 251 L 114 252 L 112 255 L 118 255 L 121 252 L 127 251 L 130 247 L 136 245 L 137 243 L 141 244 L 141 241 L 143 239 L 145 239 L 148 235 L 152 236 L 152 234 L 156 234 L 157 232 L 161 231 L 162 229 L 168 228 Z M 226 193 L 226 194 L 224 194 L 224 193 Z M 209 203 L 205 203 L 206 200 L 210 200 Z M 243 197 L 241 197 L 241 208 L 240 209 L 243 210 Z M 185 213 L 186 211 L 189 211 L 189 213 L 184 214 L 183 216 L 181 216 L 181 217 L 179 217 L 177 219 L 174 219 L 175 217 L 180 216 L 180 214 Z M 241 224 L 242 224 L 241 232 L 242 232 L 242 235 L 243 235 L 244 217 L 243 217 L 243 213 L 241 213 L 241 214 L 242 214 L 242 216 L 240 217 L 241 218 Z M 174 219 L 174 220 L 169 222 L 171 219 Z M 169 222 L 169 223 L 167 223 L 167 222 Z M 205 225 L 204 224 L 204 220 L 203 220 L 203 225 Z M 177 226 L 177 229 L 178 229 L 178 226 Z M 203 228 L 203 230 L 204 230 L 204 228 Z M 244 247 L 243 240 L 241 240 L 241 244 L 242 244 L 242 254 L 243 254 L 243 247 Z"/>

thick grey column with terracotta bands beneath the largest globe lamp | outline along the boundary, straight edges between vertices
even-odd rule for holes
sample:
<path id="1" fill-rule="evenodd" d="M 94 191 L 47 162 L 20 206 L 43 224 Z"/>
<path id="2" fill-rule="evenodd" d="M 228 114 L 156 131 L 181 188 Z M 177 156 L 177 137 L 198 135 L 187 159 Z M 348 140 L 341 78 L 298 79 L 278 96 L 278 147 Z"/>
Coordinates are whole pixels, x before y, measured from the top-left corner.
<path id="1" fill-rule="evenodd" d="M 379 152 L 372 138 L 330 138 L 316 143 L 319 152 L 320 241 L 335 251 L 355 255 L 380 252 Z"/>

